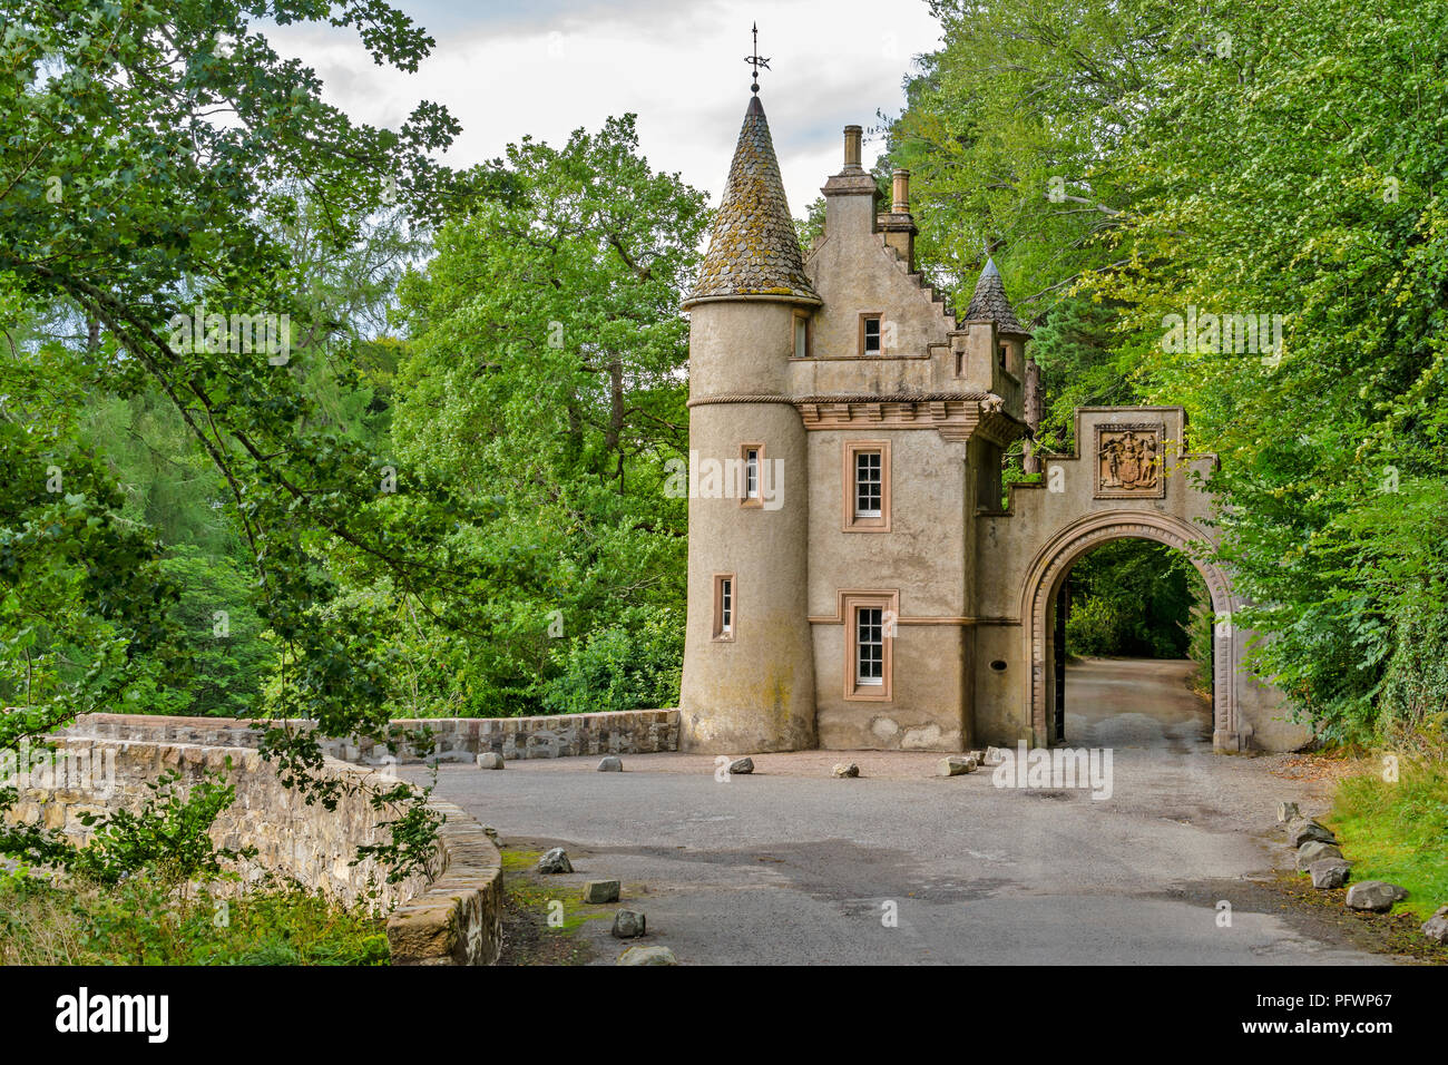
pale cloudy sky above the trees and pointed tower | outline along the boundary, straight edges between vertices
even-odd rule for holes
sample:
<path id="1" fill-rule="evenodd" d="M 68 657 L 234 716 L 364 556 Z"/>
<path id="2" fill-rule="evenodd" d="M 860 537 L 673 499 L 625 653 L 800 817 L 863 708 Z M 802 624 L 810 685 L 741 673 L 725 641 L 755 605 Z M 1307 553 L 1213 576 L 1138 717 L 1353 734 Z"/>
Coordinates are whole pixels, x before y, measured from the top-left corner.
<path id="1" fill-rule="evenodd" d="M 533 135 L 562 143 L 634 112 L 643 154 L 718 204 L 749 104 L 750 25 L 789 207 L 796 216 L 840 170 L 847 125 L 879 155 L 877 112 L 896 114 L 914 59 L 935 51 L 925 0 L 392 0 L 437 45 L 417 74 L 378 67 L 356 33 L 268 26 L 272 46 L 313 67 L 324 97 L 358 122 L 397 128 L 418 100 L 463 132 L 443 156 L 468 167 Z"/>

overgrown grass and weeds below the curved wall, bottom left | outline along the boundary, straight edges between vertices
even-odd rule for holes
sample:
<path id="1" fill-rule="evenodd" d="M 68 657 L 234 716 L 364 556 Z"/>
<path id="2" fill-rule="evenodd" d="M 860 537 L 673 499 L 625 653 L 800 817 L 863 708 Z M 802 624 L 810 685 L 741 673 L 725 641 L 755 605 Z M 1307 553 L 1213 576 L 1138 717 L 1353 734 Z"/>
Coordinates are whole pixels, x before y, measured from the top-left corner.
<path id="1" fill-rule="evenodd" d="M 222 901 L 146 880 L 0 875 L 3 965 L 387 965 L 387 923 L 295 884 Z"/>

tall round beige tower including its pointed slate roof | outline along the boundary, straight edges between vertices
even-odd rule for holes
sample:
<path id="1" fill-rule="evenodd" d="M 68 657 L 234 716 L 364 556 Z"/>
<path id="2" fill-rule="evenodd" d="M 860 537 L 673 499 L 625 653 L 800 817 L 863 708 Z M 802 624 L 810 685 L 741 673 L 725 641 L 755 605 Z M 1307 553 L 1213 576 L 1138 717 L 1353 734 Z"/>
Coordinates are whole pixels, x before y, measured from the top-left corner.
<path id="1" fill-rule="evenodd" d="M 691 452 L 679 698 L 685 751 L 815 746 L 808 455 L 788 365 L 820 303 L 754 96 L 698 287 L 683 303 Z"/>

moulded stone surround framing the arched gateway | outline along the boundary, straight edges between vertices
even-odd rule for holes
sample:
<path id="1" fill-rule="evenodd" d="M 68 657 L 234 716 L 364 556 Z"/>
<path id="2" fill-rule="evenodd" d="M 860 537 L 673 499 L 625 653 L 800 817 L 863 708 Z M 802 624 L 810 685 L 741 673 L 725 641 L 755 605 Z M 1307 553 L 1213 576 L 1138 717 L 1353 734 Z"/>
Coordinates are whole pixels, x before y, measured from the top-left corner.
<path id="1" fill-rule="evenodd" d="M 1067 575 L 1079 559 L 1121 539 L 1145 539 L 1183 554 L 1206 584 L 1213 613 L 1212 635 L 1212 742 L 1218 749 L 1237 748 L 1235 640 L 1231 626 L 1232 596 L 1225 574 L 1203 558 L 1206 538 L 1197 527 L 1161 513 L 1103 511 L 1060 530 L 1037 554 L 1022 593 L 1027 620 L 1030 724 L 1037 743 L 1054 743 L 1064 735 L 1066 691 L 1064 622 L 1061 603 L 1069 594 Z"/>

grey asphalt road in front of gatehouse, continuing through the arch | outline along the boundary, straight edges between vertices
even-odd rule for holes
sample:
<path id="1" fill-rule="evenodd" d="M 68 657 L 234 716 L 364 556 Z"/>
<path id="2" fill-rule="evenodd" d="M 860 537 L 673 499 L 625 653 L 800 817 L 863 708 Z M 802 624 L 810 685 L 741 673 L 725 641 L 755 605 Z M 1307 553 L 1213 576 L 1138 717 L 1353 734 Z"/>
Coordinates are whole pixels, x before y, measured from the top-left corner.
<path id="1" fill-rule="evenodd" d="M 1321 813 L 1325 795 L 1274 775 L 1280 758 L 1213 755 L 1186 668 L 1070 671 L 1067 742 L 1111 749 L 1109 798 L 933 777 L 940 755 L 901 752 L 760 755 L 727 782 L 698 755 L 626 756 L 621 774 L 594 758 L 445 765 L 437 791 L 511 846 L 565 846 L 560 894 L 621 880 L 643 942 L 682 964 L 1387 961 L 1261 885 L 1290 861 L 1277 800 Z M 862 777 L 833 778 L 837 761 Z M 579 935 L 601 964 L 626 946 L 607 920 Z"/>

